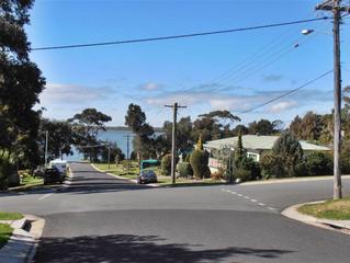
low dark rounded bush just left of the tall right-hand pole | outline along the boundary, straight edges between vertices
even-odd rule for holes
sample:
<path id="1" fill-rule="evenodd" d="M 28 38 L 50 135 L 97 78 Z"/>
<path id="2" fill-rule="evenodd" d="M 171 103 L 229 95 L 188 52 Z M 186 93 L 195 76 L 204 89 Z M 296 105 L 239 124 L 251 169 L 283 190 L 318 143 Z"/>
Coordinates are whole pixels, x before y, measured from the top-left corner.
<path id="1" fill-rule="evenodd" d="M 305 157 L 306 175 L 332 174 L 332 160 L 324 152 L 312 152 Z"/>

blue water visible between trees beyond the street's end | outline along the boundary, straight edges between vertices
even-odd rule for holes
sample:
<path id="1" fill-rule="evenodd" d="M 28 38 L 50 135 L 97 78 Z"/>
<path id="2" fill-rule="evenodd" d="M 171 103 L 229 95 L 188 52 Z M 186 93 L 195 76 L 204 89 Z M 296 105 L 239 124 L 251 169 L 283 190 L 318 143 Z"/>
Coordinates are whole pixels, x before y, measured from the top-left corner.
<path id="1" fill-rule="evenodd" d="M 131 130 L 120 130 L 120 129 L 108 129 L 105 132 L 100 132 L 98 135 L 99 140 L 104 140 L 104 141 L 111 141 L 116 142 L 117 147 L 122 149 L 123 153 L 126 157 L 127 152 L 127 138 L 126 136 L 129 136 L 129 155 L 133 151 L 133 136 L 134 133 Z M 64 159 L 68 161 L 80 161 L 82 160 L 82 155 L 75 148 L 72 147 L 72 156 L 66 157 Z"/>

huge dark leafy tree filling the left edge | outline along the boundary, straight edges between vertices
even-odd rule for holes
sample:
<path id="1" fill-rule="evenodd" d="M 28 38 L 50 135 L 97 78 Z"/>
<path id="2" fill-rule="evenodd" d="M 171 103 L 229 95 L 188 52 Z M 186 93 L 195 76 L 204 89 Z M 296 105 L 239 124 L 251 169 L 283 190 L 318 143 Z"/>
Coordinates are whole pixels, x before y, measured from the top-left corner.
<path id="1" fill-rule="evenodd" d="M 24 26 L 30 23 L 32 5 L 32 0 L 0 3 L 0 149 L 2 158 L 35 165 L 41 112 L 33 106 L 45 79 L 29 56 L 31 46 Z"/>

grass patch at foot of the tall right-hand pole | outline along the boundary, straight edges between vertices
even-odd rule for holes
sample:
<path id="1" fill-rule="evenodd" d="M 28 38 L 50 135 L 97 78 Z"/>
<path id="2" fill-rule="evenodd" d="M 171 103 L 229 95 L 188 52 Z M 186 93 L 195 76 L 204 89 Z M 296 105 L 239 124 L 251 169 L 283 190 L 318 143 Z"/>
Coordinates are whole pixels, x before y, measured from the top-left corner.
<path id="1" fill-rule="evenodd" d="M 300 213 L 324 219 L 350 220 L 350 196 L 339 201 L 326 201 L 326 203 L 304 205 Z"/>

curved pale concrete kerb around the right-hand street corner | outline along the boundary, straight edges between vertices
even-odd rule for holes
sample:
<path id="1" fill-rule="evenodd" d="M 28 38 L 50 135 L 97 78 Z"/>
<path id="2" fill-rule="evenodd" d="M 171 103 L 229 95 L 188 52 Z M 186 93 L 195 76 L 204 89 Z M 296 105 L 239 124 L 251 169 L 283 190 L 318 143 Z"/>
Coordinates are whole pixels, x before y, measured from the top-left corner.
<path id="1" fill-rule="evenodd" d="M 304 215 L 298 213 L 298 208 L 303 205 L 321 204 L 325 201 L 308 202 L 304 204 L 297 204 L 285 208 L 281 214 L 287 218 L 312 225 L 314 227 L 319 227 L 328 230 L 340 231 L 342 233 L 350 235 L 350 220 L 329 220 L 320 219 L 313 216 Z"/>

